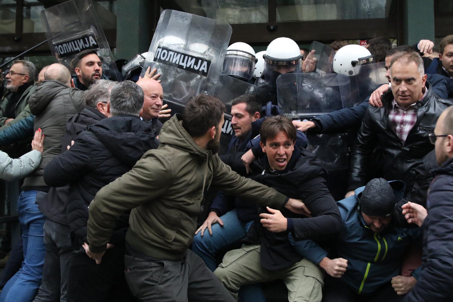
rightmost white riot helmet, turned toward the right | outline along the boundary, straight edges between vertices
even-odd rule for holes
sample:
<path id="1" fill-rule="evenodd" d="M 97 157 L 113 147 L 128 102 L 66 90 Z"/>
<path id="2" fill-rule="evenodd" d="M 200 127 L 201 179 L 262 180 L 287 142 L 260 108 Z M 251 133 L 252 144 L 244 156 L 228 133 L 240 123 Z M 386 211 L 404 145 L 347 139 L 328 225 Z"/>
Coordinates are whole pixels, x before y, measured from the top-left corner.
<path id="1" fill-rule="evenodd" d="M 351 44 L 338 49 L 333 57 L 333 72 L 355 76 L 364 64 L 374 63 L 374 56 L 363 46 Z"/>

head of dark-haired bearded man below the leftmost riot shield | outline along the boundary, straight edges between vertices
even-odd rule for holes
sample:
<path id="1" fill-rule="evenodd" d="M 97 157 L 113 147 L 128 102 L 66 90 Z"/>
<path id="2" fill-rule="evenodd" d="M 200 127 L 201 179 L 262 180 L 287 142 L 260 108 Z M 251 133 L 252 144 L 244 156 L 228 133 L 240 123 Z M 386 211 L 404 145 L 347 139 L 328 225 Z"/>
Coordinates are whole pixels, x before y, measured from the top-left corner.
<path id="1" fill-rule="evenodd" d="M 77 78 L 73 78 L 74 86 L 80 90 L 87 90 L 102 77 L 102 62 L 95 50 L 87 49 L 78 53 L 71 67 L 77 75 Z"/>

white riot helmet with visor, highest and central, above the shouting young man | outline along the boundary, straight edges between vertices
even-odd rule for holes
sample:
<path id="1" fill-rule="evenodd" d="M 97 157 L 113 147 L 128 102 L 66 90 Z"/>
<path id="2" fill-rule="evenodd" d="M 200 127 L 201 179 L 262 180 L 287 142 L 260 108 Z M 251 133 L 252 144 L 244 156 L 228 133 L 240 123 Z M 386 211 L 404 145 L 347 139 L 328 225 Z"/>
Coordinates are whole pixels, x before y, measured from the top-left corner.
<path id="1" fill-rule="evenodd" d="M 271 87 L 277 86 L 277 77 L 282 73 L 302 72 L 299 45 L 290 38 L 276 38 L 270 42 L 264 61 L 264 80 Z"/>

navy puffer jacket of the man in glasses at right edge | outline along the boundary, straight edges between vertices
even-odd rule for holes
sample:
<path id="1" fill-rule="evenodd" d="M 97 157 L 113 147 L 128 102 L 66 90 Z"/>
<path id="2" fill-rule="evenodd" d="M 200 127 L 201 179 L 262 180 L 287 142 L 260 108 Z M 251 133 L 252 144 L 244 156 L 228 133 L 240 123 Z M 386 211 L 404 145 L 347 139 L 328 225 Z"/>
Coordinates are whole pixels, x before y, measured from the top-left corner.
<path id="1" fill-rule="evenodd" d="M 405 302 L 452 301 L 453 297 L 453 158 L 435 171 L 423 222 L 420 277 Z"/>

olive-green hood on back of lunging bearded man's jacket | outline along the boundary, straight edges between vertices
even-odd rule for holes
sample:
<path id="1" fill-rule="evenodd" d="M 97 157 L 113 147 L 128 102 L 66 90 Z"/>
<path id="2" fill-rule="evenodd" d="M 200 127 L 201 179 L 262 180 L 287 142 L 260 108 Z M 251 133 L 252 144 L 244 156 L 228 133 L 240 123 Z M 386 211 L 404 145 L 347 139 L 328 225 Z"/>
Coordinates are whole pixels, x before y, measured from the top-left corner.
<path id="1" fill-rule="evenodd" d="M 173 148 L 198 155 L 207 159 L 212 152 L 200 148 L 193 138 L 183 127 L 183 116 L 175 114 L 171 119 L 165 122 L 160 130 L 159 141 L 161 144 L 168 144 Z"/>

